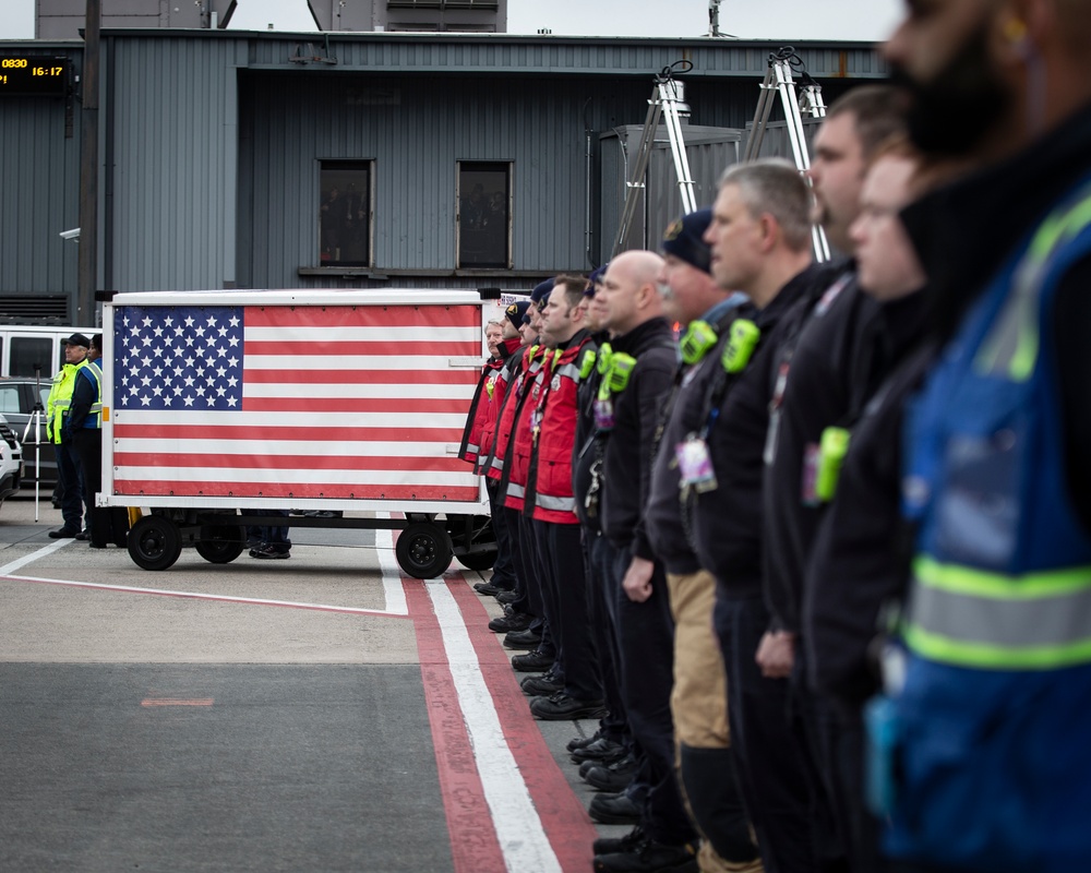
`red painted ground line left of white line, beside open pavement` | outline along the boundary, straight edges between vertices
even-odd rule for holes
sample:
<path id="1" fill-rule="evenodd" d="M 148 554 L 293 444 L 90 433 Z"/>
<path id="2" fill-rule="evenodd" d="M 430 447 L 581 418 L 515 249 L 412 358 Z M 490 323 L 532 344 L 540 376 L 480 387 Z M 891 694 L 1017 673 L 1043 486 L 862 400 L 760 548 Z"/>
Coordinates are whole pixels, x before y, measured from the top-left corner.
<path id="1" fill-rule="evenodd" d="M 458 704 L 440 622 L 424 583 L 403 576 L 401 584 L 417 632 L 424 702 L 432 726 L 432 745 L 455 873 L 502 873 L 506 870 L 504 856 Z"/>

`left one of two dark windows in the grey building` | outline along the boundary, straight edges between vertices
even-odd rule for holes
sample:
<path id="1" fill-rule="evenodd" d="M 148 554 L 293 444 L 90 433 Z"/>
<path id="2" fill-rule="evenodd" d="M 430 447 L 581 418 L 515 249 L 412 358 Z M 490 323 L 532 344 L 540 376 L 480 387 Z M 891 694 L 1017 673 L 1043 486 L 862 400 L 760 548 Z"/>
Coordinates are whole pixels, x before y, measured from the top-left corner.
<path id="1" fill-rule="evenodd" d="M 322 266 L 371 265 L 370 160 L 323 160 L 319 187 Z"/>

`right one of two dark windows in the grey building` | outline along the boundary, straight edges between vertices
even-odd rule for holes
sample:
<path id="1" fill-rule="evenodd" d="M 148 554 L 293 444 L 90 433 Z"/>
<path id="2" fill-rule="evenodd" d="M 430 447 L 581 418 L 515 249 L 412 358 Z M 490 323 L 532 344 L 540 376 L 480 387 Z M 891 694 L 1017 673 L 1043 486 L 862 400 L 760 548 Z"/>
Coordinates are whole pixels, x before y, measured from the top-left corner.
<path id="1" fill-rule="evenodd" d="M 512 266 L 512 165 L 458 163 L 458 266 Z"/>

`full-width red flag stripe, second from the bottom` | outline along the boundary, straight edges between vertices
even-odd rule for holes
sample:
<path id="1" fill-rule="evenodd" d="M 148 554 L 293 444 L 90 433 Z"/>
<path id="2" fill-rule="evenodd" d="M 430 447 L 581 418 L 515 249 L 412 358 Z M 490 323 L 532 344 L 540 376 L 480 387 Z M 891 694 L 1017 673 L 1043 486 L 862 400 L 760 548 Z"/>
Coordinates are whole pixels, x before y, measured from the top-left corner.
<path id="1" fill-rule="evenodd" d="M 445 457 L 372 455 L 194 455 L 184 452 L 125 452 L 113 454 L 116 467 L 203 467 L 239 470 L 428 470 L 467 473 L 466 462 Z M 257 488 L 259 486 L 253 486 Z"/>

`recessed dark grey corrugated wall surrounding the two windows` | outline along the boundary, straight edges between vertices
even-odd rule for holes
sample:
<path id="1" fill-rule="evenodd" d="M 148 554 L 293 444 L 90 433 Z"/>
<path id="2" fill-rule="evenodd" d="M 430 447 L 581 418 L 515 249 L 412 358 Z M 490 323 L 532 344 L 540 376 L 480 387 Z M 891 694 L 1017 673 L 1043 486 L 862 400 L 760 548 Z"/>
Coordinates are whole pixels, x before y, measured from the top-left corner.
<path id="1" fill-rule="evenodd" d="M 587 265 L 585 119 L 643 120 L 638 83 L 416 76 L 249 76 L 243 178 L 252 177 L 247 284 L 292 287 L 317 266 L 319 162 L 375 162 L 374 267 L 455 268 L 459 160 L 514 162 L 516 270 Z M 397 106 L 352 105 L 360 88 Z M 650 84 L 647 93 L 650 94 Z M 241 280 L 241 278 L 240 278 Z"/>

